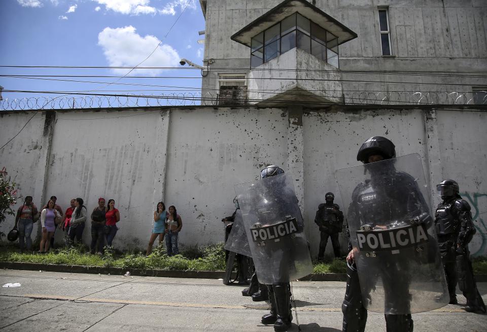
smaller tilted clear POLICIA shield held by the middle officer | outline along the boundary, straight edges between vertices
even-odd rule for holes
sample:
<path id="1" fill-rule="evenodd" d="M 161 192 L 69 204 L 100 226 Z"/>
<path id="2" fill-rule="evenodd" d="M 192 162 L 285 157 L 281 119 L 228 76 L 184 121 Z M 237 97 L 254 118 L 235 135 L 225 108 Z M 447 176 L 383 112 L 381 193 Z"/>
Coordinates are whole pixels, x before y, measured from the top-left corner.
<path id="1" fill-rule="evenodd" d="M 289 282 L 312 272 L 303 219 L 287 174 L 235 185 L 260 283 Z"/>

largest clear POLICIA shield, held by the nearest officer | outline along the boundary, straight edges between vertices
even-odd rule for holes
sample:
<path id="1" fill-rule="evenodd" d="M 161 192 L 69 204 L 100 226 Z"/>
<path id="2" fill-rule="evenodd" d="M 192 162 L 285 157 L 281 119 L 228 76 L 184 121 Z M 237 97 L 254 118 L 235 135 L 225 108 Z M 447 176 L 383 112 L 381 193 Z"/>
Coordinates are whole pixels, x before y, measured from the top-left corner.
<path id="1" fill-rule="evenodd" d="M 348 206 L 364 306 L 409 314 L 448 304 L 420 156 L 339 169 L 335 176 Z"/>

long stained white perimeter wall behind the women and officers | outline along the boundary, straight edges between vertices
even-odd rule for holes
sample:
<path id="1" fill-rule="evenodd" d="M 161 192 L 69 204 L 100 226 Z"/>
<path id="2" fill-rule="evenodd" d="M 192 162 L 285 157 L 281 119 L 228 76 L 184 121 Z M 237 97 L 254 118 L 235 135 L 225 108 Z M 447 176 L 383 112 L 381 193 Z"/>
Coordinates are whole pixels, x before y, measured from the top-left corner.
<path id="1" fill-rule="evenodd" d="M 166 208 L 175 205 L 182 216 L 181 245 L 223 241 L 221 219 L 234 210 L 233 185 L 258 179 L 268 164 L 282 165 L 295 179 L 306 235 L 316 255 L 318 204 L 331 191 L 343 208 L 335 170 L 358 165 L 360 144 L 382 135 L 396 144 L 398 156 L 421 155 L 433 206 L 438 203 L 436 183 L 458 180 L 477 220 L 471 252 L 486 254 L 487 113 L 370 107 L 42 111 L 0 150 L 0 167 L 7 167 L 19 193 L 33 196 L 38 207 L 52 195 L 63 209 L 71 198 L 82 197 L 91 213 L 99 197 L 115 199 L 121 221 L 114 245 L 128 249 L 147 245 L 152 214 L 161 200 Z M 32 115 L 3 113 L 0 143 L 18 133 Z M 9 216 L 2 231 L 12 225 Z M 32 234 L 39 234 L 37 226 Z M 61 238 L 57 232 L 56 241 Z M 89 221 L 83 238 L 89 244 Z M 340 239 L 344 252 L 344 233 Z"/>

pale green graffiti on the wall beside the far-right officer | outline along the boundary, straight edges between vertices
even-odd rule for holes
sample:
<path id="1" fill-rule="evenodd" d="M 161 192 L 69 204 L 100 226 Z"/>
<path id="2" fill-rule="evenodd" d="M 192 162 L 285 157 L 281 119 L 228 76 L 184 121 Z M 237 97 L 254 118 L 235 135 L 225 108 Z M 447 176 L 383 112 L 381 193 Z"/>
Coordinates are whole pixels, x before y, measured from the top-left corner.
<path id="1" fill-rule="evenodd" d="M 473 256 L 487 255 L 487 193 L 460 193 L 472 208 L 472 220 L 474 220 L 477 233 L 470 242 L 469 248 Z"/>

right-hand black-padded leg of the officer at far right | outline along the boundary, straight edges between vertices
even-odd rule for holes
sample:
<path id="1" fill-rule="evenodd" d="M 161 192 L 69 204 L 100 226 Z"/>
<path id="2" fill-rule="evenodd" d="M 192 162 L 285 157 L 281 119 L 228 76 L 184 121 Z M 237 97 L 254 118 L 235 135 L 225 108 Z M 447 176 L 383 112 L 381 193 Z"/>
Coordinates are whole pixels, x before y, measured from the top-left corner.
<path id="1" fill-rule="evenodd" d="M 458 286 L 467 298 L 465 310 L 468 312 L 485 313 L 485 304 L 477 289 L 477 283 L 473 276 L 472 262 L 470 262 L 470 251 L 467 248 L 457 250 L 457 274 Z"/>

